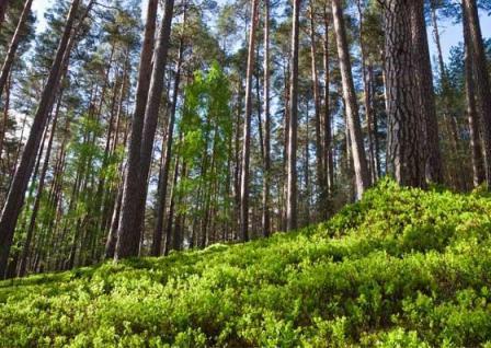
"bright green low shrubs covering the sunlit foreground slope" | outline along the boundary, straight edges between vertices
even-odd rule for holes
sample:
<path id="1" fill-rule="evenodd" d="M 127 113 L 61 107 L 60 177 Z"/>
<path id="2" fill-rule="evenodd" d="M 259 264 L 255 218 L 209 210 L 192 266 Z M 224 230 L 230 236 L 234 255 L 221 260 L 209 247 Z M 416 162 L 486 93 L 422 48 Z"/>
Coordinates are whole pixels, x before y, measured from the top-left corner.
<path id="1" fill-rule="evenodd" d="M 0 347 L 491 347 L 490 218 L 385 182 L 297 233 L 0 282 Z"/>

